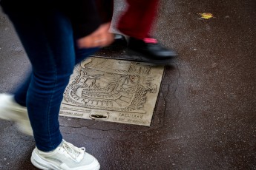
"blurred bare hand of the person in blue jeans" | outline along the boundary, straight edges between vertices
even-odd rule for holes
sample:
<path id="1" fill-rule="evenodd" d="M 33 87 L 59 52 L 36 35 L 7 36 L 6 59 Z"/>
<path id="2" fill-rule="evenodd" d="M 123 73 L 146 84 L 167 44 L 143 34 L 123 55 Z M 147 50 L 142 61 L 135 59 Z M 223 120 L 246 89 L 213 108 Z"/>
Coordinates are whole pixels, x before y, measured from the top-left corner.
<path id="1" fill-rule="evenodd" d="M 106 47 L 114 41 L 114 34 L 109 33 L 110 22 L 102 24 L 90 35 L 79 38 L 76 43 L 79 48 Z"/>

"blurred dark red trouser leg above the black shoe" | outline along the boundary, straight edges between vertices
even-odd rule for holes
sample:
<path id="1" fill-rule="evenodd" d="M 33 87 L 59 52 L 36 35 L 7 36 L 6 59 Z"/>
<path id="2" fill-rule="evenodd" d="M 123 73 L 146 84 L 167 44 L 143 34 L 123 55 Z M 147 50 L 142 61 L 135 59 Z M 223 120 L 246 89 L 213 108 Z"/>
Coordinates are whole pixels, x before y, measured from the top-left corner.
<path id="1" fill-rule="evenodd" d="M 128 8 L 119 18 L 117 29 L 125 35 L 148 37 L 157 17 L 159 0 L 126 0 Z"/>

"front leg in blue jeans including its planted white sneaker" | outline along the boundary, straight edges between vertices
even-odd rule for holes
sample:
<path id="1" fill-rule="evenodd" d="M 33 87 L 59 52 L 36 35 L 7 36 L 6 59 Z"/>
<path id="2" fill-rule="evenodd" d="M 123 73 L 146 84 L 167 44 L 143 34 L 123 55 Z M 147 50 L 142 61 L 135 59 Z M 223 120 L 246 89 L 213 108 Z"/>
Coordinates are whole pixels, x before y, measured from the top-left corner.
<path id="1" fill-rule="evenodd" d="M 73 29 L 68 18 L 56 9 L 33 11 L 33 15 L 27 10 L 24 13 L 12 11 L 8 16 L 33 67 L 27 83 L 20 88 L 27 89 L 27 93 L 16 93 L 17 98 L 23 96 L 26 101 L 36 140 L 31 162 L 39 169 L 60 170 L 64 166 L 65 169 L 98 170 L 98 161 L 85 153 L 85 148 L 77 148 L 62 139 L 58 120 L 62 95 L 75 63 L 82 60 L 82 54 L 89 55 L 97 48 L 79 50 L 76 58 Z"/>

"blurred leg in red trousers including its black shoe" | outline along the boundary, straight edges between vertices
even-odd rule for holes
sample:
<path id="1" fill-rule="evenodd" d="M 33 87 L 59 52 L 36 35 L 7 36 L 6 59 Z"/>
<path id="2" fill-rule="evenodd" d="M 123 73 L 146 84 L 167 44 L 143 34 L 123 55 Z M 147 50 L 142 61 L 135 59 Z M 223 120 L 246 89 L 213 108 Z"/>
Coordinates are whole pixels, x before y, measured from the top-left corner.
<path id="1" fill-rule="evenodd" d="M 157 17 L 159 0 L 127 0 L 127 2 L 128 8 L 119 18 L 117 29 L 129 36 L 128 50 L 133 55 L 146 58 L 146 61 L 152 64 L 171 64 L 171 60 L 177 56 L 177 52 L 163 47 L 150 36 L 151 28 Z M 116 41 L 119 39 L 116 38 Z"/>

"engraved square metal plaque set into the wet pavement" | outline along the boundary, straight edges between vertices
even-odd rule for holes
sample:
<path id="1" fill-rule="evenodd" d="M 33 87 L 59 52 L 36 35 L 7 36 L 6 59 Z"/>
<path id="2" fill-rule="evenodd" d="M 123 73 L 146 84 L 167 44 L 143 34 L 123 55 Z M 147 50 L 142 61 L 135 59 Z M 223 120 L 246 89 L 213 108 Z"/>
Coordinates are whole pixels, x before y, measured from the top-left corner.
<path id="1" fill-rule="evenodd" d="M 90 57 L 76 65 L 59 115 L 150 126 L 164 67 Z"/>

